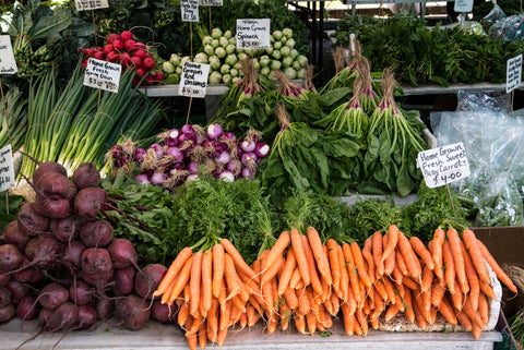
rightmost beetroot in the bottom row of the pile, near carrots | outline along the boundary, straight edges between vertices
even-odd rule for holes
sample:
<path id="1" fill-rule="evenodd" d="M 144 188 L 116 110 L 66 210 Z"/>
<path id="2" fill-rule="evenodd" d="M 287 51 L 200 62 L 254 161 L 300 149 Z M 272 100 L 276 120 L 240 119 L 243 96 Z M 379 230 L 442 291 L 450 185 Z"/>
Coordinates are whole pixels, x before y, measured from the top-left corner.
<path id="1" fill-rule="evenodd" d="M 150 304 L 136 294 L 117 301 L 115 315 L 128 329 L 140 329 L 150 321 Z"/>

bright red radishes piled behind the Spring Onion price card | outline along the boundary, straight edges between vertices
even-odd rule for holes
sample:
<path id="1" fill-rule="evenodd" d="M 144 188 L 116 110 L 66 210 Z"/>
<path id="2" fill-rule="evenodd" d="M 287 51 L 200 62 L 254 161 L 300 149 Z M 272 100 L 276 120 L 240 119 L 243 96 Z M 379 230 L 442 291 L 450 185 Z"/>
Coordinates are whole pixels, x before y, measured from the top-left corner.
<path id="1" fill-rule="evenodd" d="M 106 39 L 104 47 L 81 49 L 84 53 L 83 64 L 87 64 L 88 58 L 120 63 L 122 71 L 132 69 L 135 71 L 133 83 L 151 86 L 164 82 L 164 73 L 156 70 L 156 59 L 152 56 L 151 48 L 144 43 L 136 40 L 131 31 L 120 34 L 112 33 Z"/>

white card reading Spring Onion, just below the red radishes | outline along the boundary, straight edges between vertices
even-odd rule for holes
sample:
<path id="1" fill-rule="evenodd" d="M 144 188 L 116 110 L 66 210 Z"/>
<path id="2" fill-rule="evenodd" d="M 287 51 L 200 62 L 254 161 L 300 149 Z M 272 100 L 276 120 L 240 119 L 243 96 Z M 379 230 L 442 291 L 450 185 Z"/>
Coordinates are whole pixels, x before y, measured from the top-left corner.
<path id="1" fill-rule="evenodd" d="M 118 93 L 122 65 L 90 58 L 85 68 L 84 85 Z"/>

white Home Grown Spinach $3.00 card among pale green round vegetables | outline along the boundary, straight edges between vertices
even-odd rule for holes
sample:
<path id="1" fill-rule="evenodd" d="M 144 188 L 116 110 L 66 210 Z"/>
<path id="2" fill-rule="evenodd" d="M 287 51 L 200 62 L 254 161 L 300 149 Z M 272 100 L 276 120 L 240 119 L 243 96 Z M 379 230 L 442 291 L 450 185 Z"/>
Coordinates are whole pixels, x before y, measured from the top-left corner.
<path id="1" fill-rule="evenodd" d="M 237 19 L 238 49 L 269 49 L 270 36 L 270 19 Z"/>

